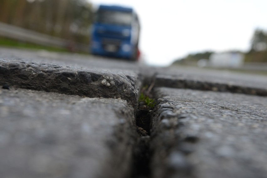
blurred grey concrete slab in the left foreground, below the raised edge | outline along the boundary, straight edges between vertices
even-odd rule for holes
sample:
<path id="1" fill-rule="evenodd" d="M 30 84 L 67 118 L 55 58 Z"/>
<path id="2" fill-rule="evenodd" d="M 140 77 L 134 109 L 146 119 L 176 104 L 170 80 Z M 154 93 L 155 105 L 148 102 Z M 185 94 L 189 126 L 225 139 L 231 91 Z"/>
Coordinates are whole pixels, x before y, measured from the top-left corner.
<path id="1" fill-rule="evenodd" d="M 129 177 L 133 113 L 122 99 L 0 89 L 0 175 Z"/>

